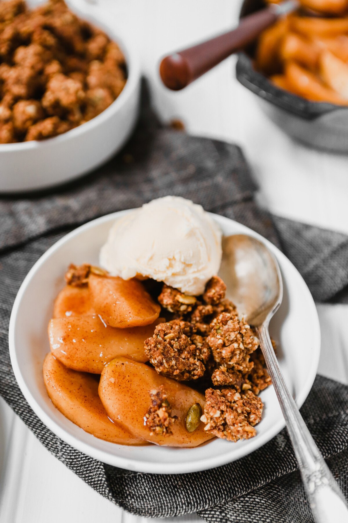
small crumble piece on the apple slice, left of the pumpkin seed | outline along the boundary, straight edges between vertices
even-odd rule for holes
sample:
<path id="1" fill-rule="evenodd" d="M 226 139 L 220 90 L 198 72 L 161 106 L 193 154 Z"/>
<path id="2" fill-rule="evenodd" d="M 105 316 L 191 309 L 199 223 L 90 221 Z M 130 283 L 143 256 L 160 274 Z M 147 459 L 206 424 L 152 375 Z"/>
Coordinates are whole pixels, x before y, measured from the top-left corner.
<path id="1" fill-rule="evenodd" d="M 169 436 L 176 416 L 172 416 L 171 406 L 167 400 L 164 386 L 150 391 L 151 405 L 144 417 L 144 425 L 150 430 L 150 436 Z"/>

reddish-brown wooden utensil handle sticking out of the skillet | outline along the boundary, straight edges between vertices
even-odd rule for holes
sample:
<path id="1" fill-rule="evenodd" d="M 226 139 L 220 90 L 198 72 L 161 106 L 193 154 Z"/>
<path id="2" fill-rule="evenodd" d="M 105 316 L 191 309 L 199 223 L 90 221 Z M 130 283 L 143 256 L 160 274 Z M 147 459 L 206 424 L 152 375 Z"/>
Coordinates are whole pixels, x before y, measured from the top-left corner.
<path id="1" fill-rule="evenodd" d="M 227 56 L 255 40 L 263 29 L 277 20 L 278 16 L 278 11 L 271 5 L 244 17 L 233 31 L 165 56 L 160 63 L 162 82 L 174 91 L 183 89 Z"/>

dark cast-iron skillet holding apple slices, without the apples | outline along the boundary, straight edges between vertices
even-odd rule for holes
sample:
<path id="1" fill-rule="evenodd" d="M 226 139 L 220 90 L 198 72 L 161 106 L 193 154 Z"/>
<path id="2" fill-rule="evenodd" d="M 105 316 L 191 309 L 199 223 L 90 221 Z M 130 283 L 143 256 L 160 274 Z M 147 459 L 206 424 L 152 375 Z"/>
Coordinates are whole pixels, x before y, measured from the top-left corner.
<path id="1" fill-rule="evenodd" d="M 265 6 L 263 0 L 244 0 L 240 16 Z M 274 85 L 253 64 L 254 46 L 239 53 L 237 80 L 258 96 L 266 115 L 292 138 L 318 149 L 347 153 L 348 108 L 309 101 Z"/>

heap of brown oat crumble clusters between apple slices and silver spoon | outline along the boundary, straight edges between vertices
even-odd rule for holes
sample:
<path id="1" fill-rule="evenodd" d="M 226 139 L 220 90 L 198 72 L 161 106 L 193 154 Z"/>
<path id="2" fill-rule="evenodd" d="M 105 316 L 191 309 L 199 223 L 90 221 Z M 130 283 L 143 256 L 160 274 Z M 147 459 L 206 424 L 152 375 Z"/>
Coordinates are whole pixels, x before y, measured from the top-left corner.
<path id="1" fill-rule="evenodd" d="M 200 297 L 163 285 L 158 301 L 171 313 L 145 342 L 157 372 L 179 381 L 202 378 L 205 430 L 229 441 L 256 435 L 263 404 L 258 394 L 271 384 L 259 341 L 225 299 L 226 286 L 211 278 Z"/>

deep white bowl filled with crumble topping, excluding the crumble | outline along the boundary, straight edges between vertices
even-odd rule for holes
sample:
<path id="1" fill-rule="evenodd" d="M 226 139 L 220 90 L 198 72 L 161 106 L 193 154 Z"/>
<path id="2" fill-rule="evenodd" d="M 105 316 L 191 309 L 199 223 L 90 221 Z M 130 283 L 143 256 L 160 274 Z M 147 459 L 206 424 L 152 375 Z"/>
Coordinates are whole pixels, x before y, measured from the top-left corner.
<path id="1" fill-rule="evenodd" d="M 110 107 L 76 129 L 42 141 L 0 144 L 0 193 L 46 189 L 86 174 L 119 151 L 134 129 L 140 67 L 133 43 L 95 6 L 72 10 L 119 44 L 127 63 L 126 85 Z"/>

